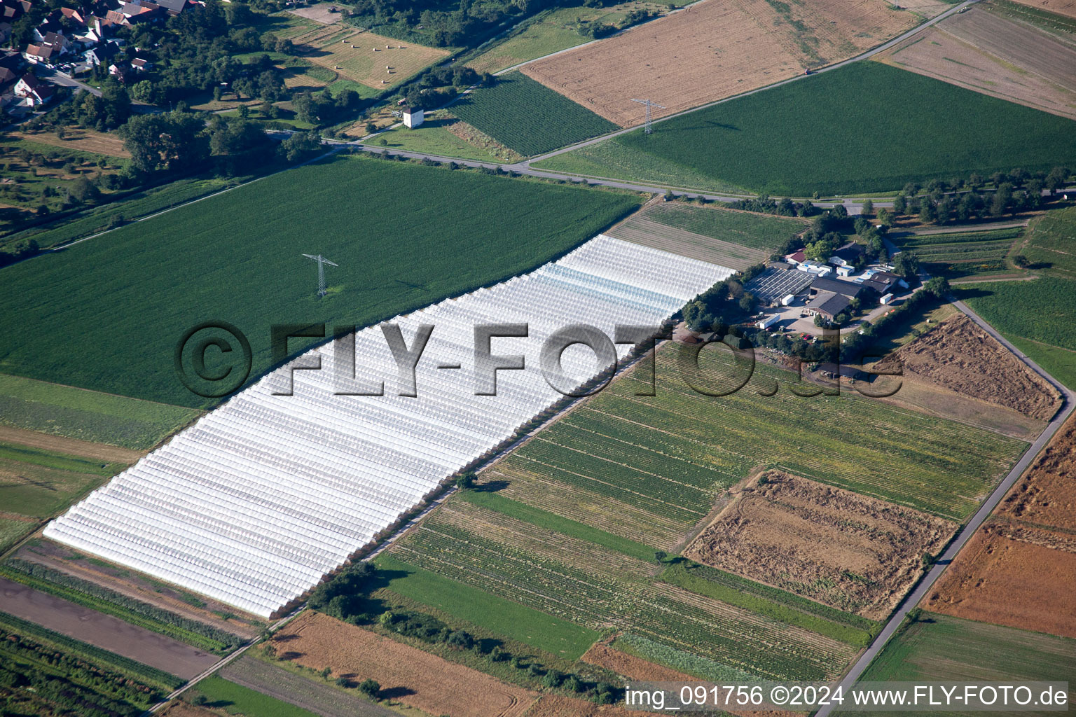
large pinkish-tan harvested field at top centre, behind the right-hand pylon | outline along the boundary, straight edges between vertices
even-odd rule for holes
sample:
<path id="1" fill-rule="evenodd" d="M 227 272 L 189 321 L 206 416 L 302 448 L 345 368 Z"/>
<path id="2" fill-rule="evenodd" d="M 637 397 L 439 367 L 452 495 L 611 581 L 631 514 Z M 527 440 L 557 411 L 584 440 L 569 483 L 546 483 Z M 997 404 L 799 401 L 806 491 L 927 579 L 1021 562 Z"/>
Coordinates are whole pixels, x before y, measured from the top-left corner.
<path id="1" fill-rule="evenodd" d="M 524 74 L 623 127 L 643 120 L 633 98 L 695 107 L 830 64 L 881 44 L 945 4 L 886 0 L 707 0 L 627 32 L 536 60 Z M 776 10 L 775 8 L 779 9 Z"/>

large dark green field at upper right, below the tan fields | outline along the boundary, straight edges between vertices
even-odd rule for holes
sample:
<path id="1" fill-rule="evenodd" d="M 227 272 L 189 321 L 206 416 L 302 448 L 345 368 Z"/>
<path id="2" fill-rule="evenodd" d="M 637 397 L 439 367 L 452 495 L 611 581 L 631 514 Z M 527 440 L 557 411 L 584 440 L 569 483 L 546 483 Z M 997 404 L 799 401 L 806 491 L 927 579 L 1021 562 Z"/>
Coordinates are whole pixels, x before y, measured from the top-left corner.
<path id="1" fill-rule="evenodd" d="M 600 149 L 611 143 L 635 157 Z M 659 123 L 651 135 L 638 130 L 585 148 L 589 171 L 572 154 L 536 167 L 679 186 L 695 186 L 703 175 L 708 186 L 770 195 L 846 195 L 1072 164 L 1076 124 L 879 62 L 854 62 Z"/>

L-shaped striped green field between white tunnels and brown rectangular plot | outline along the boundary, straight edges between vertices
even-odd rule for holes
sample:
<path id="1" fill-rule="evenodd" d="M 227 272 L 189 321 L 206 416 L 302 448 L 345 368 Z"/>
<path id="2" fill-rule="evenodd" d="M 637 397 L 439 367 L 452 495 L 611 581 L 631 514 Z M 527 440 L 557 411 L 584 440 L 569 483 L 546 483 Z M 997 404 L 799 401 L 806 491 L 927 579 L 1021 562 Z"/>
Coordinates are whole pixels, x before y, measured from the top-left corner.
<path id="1" fill-rule="evenodd" d="M 794 374 L 761 363 L 742 390 L 705 397 L 681 378 L 680 350 L 660 352 L 656 396 L 635 396 L 639 365 L 499 462 L 506 496 L 668 549 L 759 465 L 960 520 L 1027 448 L 856 393 L 799 398 Z M 700 356 L 714 388 L 730 385 L 726 356 Z M 775 396 L 756 392 L 774 382 Z"/>

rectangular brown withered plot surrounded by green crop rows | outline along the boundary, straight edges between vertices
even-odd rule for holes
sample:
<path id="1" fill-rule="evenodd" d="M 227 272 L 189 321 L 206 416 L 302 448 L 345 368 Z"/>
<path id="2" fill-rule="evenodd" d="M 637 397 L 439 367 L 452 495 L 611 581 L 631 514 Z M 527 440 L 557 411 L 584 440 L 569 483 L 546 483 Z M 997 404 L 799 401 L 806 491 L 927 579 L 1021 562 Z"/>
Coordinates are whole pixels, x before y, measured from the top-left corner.
<path id="1" fill-rule="evenodd" d="M 882 619 L 957 526 L 815 481 L 768 471 L 733 499 L 684 556 Z"/>

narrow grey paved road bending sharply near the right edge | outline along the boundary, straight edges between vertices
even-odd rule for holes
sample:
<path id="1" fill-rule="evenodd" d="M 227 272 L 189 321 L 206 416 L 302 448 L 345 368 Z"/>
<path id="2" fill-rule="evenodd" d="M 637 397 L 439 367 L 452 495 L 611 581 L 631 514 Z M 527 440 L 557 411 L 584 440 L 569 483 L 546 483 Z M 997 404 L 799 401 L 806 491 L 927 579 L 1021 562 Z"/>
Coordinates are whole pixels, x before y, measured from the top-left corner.
<path id="1" fill-rule="evenodd" d="M 979 529 L 983 520 L 987 519 L 987 517 L 993 512 L 1005 494 L 1008 493 L 1028 467 L 1031 465 L 1032 461 L 1034 461 L 1038 454 L 1042 453 L 1043 448 L 1046 447 L 1046 444 L 1053 438 L 1053 434 L 1058 432 L 1062 424 L 1065 422 L 1065 419 L 1068 418 L 1068 415 L 1073 412 L 1074 405 L 1076 405 L 1073 400 L 1076 398 L 1076 393 L 1073 393 L 1073 391 L 1054 381 L 1053 376 L 1046 373 L 1046 371 L 1039 368 L 1037 363 L 1028 358 L 1023 352 L 1019 350 L 1004 336 L 997 333 L 992 326 L 979 318 L 979 316 L 968 309 L 964 302 L 954 301 L 952 297 L 949 299 L 957 309 L 967 315 L 967 317 L 975 321 L 983 331 L 996 339 L 1003 346 L 1013 352 L 1017 358 L 1028 364 L 1032 371 L 1057 388 L 1062 396 L 1061 410 L 1053 417 L 1053 420 L 1051 420 L 1046 427 L 1046 430 L 1043 431 L 1034 443 L 1031 444 L 1031 447 L 1028 448 L 1023 457 L 1017 462 L 1016 465 L 1013 467 L 1013 470 L 1008 472 L 1000 484 L 997 484 L 997 487 L 990 493 L 990 497 L 987 498 L 975 515 L 972 516 L 972 519 L 966 526 L 964 526 L 964 529 L 960 531 L 949 547 L 946 548 L 945 553 L 942 554 L 938 561 L 934 564 L 930 572 L 926 573 L 916 589 L 904 599 L 904 602 L 902 602 L 896 612 L 893 613 L 893 616 L 889 619 L 889 622 L 886 623 L 886 627 L 882 628 L 882 631 L 878 634 L 874 644 L 872 644 L 870 647 L 863 653 L 860 659 L 855 661 L 855 664 L 852 665 L 851 670 L 848 671 L 845 678 L 840 680 L 840 686 L 845 688 L 846 693 L 859 680 L 859 678 L 863 675 L 863 672 L 870 664 L 872 660 L 878 656 L 878 654 L 886 646 L 886 643 L 889 642 L 890 637 L 892 637 L 896 630 L 901 627 L 901 623 L 904 621 L 905 616 L 907 616 L 908 611 L 918 605 L 923 597 L 930 592 L 931 588 L 934 587 L 934 583 L 936 583 L 942 574 L 945 573 L 949 563 L 951 563 L 953 558 L 957 557 L 957 554 L 960 553 L 960 549 L 964 547 L 964 544 L 967 543 L 968 539 L 971 539 L 975 531 Z M 816 713 L 815 717 L 829 717 L 832 709 L 832 706 L 824 706 Z"/>

